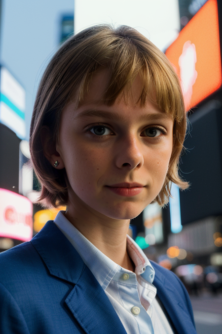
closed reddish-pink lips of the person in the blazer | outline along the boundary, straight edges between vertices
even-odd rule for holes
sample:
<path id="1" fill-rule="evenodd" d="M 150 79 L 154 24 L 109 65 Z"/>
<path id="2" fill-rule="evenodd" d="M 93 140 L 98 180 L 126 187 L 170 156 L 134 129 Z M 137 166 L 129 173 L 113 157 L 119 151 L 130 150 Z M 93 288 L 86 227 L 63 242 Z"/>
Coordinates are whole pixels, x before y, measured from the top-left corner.
<path id="1" fill-rule="evenodd" d="M 117 195 L 125 196 L 125 197 L 131 197 L 131 196 L 138 195 L 145 188 L 145 186 L 137 182 L 133 182 L 133 183 L 123 182 L 123 183 L 117 183 L 115 185 L 106 186 L 106 187 L 110 191 L 116 193 Z"/>

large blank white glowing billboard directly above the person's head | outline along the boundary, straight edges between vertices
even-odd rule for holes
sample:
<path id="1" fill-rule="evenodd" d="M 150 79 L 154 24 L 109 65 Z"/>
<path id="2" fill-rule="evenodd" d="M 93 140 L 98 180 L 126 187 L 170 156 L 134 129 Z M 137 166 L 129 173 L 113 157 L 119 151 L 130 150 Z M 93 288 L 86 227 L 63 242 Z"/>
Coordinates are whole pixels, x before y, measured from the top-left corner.
<path id="1" fill-rule="evenodd" d="M 74 32 L 95 24 L 128 25 L 164 50 L 180 31 L 178 0 L 75 0 Z"/>

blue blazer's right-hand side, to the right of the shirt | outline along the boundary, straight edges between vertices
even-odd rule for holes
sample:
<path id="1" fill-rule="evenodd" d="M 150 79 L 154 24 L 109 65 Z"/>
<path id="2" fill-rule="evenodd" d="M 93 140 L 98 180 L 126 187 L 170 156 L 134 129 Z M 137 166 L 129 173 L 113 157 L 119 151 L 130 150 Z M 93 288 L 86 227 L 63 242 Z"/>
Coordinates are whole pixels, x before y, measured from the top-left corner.
<path id="1" fill-rule="evenodd" d="M 152 263 L 153 265 L 153 263 Z M 165 307 L 172 323 L 179 334 L 196 334 L 195 327 L 187 311 L 184 299 L 177 288 L 165 276 L 155 269 L 153 285 L 157 288 L 157 295 Z"/>

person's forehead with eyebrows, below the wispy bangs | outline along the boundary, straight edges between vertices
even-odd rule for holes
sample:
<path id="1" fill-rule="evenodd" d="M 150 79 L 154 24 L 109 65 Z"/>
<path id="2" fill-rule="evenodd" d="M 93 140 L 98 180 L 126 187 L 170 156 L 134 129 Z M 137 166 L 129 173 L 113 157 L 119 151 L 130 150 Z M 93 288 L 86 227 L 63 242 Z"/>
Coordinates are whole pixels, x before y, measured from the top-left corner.
<path id="1" fill-rule="evenodd" d="M 142 82 L 138 75 L 133 83 L 126 85 L 123 94 L 120 94 L 115 102 L 107 105 L 104 98 L 105 93 L 110 83 L 109 69 L 103 69 L 96 72 L 90 85 L 88 92 L 77 106 L 75 104 L 68 104 L 63 111 L 67 115 L 69 113 L 73 120 L 77 119 L 91 119 L 91 117 L 99 117 L 112 119 L 127 123 L 128 121 L 149 121 L 149 120 L 170 120 L 172 122 L 172 115 L 163 112 L 155 101 L 155 94 L 147 96 L 145 105 L 138 103 L 141 95 Z"/>

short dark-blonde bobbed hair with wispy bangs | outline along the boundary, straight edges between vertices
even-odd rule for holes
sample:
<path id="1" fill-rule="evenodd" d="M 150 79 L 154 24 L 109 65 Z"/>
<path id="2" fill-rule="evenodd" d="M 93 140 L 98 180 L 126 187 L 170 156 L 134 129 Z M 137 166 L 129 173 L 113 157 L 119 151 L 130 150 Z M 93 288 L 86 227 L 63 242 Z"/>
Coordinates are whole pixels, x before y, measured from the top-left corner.
<path id="1" fill-rule="evenodd" d="M 144 106 L 148 95 L 154 90 L 160 109 L 173 116 L 172 155 L 165 182 L 155 198 L 160 205 L 164 205 L 169 199 L 171 182 L 181 189 L 188 187 L 178 175 L 186 131 L 180 82 L 164 53 L 147 38 L 128 26 L 115 29 L 110 25 L 97 25 L 71 37 L 56 52 L 43 74 L 30 130 L 31 160 L 41 185 L 38 202 L 54 207 L 67 205 L 68 202 L 66 171 L 53 168 L 45 158 L 40 130 L 42 126 L 48 126 L 52 140 L 56 142 L 60 115 L 66 103 L 73 96 L 77 104 L 81 103 L 93 74 L 101 68 L 109 68 L 111 72 L 104 96 L 105 104 L 112 105 L 139 74 L 142 91 L 138 103 Z"/>

